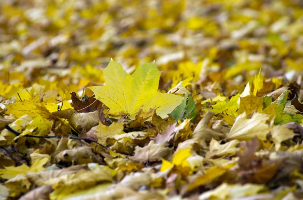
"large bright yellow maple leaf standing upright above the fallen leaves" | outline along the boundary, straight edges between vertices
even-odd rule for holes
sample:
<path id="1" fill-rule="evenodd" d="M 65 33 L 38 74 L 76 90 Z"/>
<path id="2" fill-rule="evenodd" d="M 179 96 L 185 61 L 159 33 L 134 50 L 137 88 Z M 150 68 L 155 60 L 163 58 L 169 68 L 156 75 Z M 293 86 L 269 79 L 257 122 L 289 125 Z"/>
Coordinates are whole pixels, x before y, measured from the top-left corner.
<path id="1" fill-rule="evenodd" d="M 105 86 L 88 88 L 113 115 L 128 115 L 134 119 L 142 106 L 143 110 L 156 107 L 156 113 L 166 118 L 183 100 L 180 96 L 157 91 L 161 72 L 155 62 L 139 65 L 133 75 L 129 75 L 112 59 L 103 72 Z"/>

